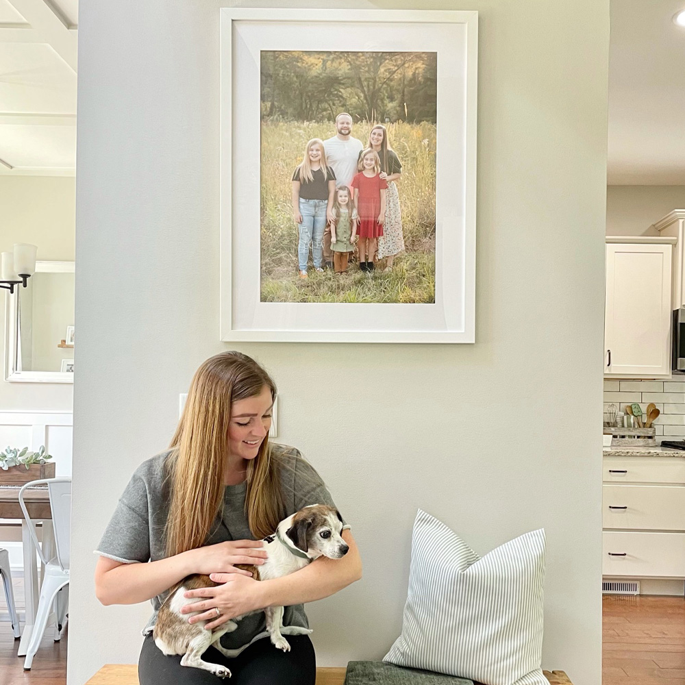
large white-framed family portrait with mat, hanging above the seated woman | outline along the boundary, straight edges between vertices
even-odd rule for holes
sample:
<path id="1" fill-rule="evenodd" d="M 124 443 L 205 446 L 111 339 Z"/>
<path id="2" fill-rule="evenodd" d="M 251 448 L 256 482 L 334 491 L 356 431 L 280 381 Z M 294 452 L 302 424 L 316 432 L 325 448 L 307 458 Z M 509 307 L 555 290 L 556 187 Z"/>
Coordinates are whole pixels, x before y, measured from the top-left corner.
<path id="1" fill-rule="evenodd" d="M 477 34 L 221 10 L 221 340 L 475 342 Z"/>

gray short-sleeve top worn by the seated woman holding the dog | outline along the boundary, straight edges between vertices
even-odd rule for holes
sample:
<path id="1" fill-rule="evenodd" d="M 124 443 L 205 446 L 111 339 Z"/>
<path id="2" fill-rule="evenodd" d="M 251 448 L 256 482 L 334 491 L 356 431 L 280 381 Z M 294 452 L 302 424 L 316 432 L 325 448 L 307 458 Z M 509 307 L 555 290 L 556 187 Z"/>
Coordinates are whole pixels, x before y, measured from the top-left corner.
<path id="1" fill-rule="evenodd" d="M 294 514 L 310 504 L 335 503 L 321 476 L 314 470 L 294 447 L 271 443 L 281 464 L 281 486 L 284 501 L 282 519 Z M 119 498 L 110 523 L 96 554 L 124 564 L 147 563 L 166 556 L 164 530 L 169 516 L 169 482 L 166 477 L 165 462 L 171 451 L 164 451 L 142 462 Z M 253 539 L 245 515 L 245 495 L 247 483 L 229 485 L 225 488 L 223 514 L 217 516 L 214 526 L 206 540 L 206 545 L 225 542 L 225 540 Z M 344 527 L 349 525 L 343 521 Z M 217 569 L 219 571 L 219 569 Z M 143 634 L 152 631 L 157 612 L 168 593 L 151 599 L 153 614 Z M 308 633 L 309 623 L 302 604 L 286 607 L 283 617 L 284 634 Z M 238 629 L 226 633 L 221 644 L 229 650 L 240 653 L 248 645 L 267 636 L 264 612 L 245 616 L 238 623 Z"/>

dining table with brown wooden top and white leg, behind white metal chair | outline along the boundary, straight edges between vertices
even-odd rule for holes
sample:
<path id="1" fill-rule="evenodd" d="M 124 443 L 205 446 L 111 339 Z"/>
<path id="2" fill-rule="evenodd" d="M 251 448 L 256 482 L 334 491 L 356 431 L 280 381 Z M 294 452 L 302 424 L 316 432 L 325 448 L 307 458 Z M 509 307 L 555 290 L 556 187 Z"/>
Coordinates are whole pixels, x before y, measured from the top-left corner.
<path id="1" fill-rule="evenodd" d="M 0 472 L 1 473 L 1 472 Z M 38 577 L 38 554 L 33 538 L 29 532 L 29 522 L 26 521 L 19 505 L 19 490 L 21 484 L 3 484 L 0 476 L 0 519 L 10 519 L 21 522 L 21 543 L 23 548 L 24 565 L 24 593 L 25 593 L 25 619 L 21 631 L 21 640 L 17 656 L 26 656 L 31 633 L 38 612 L 38 596 L 40 584 Z M 31 525 L 36 530 L 39 526 L 42 534 L 41 545 L 44 554 L 51 554 L 54 545 L 52 527 L 52 512 L 50 509 L 50 497 L 45 485 L 29 486 L 24 490 L 24 503 Z M 40 581 L 42 582 L 43 567 L 41 564 Z"/>

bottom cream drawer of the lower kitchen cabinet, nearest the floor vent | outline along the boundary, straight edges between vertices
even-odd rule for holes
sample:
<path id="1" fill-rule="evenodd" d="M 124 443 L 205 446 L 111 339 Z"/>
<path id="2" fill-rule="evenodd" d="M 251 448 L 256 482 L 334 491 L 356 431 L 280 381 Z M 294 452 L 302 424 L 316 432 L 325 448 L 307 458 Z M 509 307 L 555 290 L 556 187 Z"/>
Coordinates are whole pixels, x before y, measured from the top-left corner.
<path id="1" fill-rule="evenodd" d="M 604 531 L 602 554 L 602 575 L 685 577 L 685 533 Z"/>

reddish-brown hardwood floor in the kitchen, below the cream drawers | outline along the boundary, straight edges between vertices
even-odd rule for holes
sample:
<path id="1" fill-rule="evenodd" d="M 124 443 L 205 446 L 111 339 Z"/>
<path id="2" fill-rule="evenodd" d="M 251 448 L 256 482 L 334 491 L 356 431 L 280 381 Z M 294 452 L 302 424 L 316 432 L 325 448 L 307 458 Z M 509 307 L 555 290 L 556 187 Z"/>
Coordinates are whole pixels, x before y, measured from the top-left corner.
<path id="1" fill-rule="evenodd" d="M 604 595 L 602 685 L 685 683 L 685 598 Z"/>

